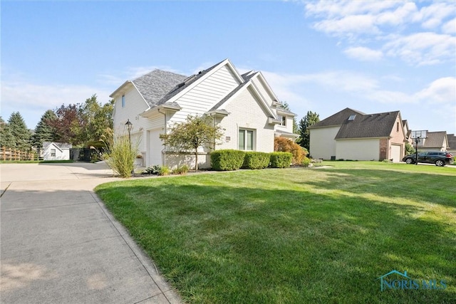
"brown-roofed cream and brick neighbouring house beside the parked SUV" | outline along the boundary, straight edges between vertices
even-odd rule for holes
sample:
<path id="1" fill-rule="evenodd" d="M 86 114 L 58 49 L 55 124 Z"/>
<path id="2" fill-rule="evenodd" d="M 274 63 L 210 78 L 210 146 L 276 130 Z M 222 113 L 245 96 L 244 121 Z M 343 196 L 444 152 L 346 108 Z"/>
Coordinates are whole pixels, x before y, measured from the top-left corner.
<path id="1" fill-rule="evenodd" d="M 405 154 L 399 111 L 365 114 L 346 108 L 311 125 L 309 132 L 314 158 L 400 162 Z"/>

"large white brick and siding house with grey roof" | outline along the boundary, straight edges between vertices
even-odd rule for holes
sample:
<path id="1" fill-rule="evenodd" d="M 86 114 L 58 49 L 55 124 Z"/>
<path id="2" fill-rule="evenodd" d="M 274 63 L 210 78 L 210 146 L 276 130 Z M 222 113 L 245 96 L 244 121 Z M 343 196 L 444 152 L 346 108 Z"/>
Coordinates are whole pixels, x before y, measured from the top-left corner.
<path id="1" fill-rule="evenodd" d="M 272 152 L 275 136 L 299 136 L 293 134 L 296 115 L 282 107 L 261 72 L 240 74 L 228 59 L 190 77 L 153 70 L 126 81 L 110 97 L 115 135 L 125 134 L 130 120 L 132 142 L 139 142 L 147 167 L 194 163 L 191 152 L 172 152 L 159 137 L 188 115 L 210 115 L 224 128 L 217 150 Z M 210 166 L 209 152 L 199 151 L 199 166 Z"/>

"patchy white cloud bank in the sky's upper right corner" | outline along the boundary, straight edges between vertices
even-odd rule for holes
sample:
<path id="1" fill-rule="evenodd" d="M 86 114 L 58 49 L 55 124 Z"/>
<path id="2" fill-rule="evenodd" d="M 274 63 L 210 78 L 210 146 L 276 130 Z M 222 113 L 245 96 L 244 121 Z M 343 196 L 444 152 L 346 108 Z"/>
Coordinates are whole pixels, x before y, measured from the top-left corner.
<path id="1" fill-rule="evenodd" d="M 348 48 L 344 53 L 348 57 L 378 60 L 379 51 L 362 52 L 372 50 L 369 43 L 375 41 L 383 43 L 380 49 L 384 53 L 388 51 L 388 56 L 400 58 L 410 65 L 434 65 L 455 60 L 456 6 L 451 1 L 304 3 L 306 16 L 313 19 L 317 31 L 346 39 Z M 390 34 L 392 30 L 395 34 Z"/>

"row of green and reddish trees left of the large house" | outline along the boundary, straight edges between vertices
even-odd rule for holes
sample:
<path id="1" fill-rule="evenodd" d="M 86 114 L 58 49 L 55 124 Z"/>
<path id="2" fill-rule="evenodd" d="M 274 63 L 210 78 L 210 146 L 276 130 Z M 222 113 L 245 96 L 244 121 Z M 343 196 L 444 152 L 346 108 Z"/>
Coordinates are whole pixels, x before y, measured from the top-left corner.
<path id="1" fill-rule="evenodd" d="M 67 142 L 84 147 L 98 142 L 113 128 L 114 100 L 102 104 L 96 95 L 84 103 L 61 105 L 47 110 L 34 130 L 28 130 L 20 112 L 13 112 L 8 121 L 0 117 L 0 147 L 30 151 L 41 148 L 43 142 Z"/>

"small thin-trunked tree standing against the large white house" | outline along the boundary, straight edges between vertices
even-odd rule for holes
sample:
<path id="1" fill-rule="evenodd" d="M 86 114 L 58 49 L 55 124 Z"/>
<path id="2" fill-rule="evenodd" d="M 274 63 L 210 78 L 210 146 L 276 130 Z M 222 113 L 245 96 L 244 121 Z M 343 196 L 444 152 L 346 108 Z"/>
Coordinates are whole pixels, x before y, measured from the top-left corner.
<path id="1" fill-rule="evenodd" d="M 195 153 L 195 171 L 198 170 L 199 147 L 213 149 L 222 136 L 222 127 L 215 125 L 213 118 L 207 115 L 189 115 L 185 122 L 173 125 L 167 134 L 160 134 L 163 145 Z"/>

